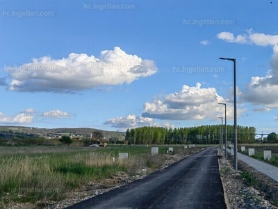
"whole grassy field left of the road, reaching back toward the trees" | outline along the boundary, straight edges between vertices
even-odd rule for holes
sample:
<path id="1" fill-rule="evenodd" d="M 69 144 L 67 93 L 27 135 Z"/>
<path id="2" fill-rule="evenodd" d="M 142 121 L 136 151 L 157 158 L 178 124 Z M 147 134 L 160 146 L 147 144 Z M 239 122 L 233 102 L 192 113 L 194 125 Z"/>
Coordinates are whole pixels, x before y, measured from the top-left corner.
<path id="1" fill-rule="evenodd" d="M 0 201 L 60 200 L 65 192 L 111 178 L 118 171 L 136 175 L 145 167 L 161 167 L 161 154 L 169 147 L 174 153 L 184 150 L 183 146 L 158 146 L 158 155 L 152 156 L 151 147 L 0 146 Z M 128 160 L 118 160 L 118 153 L 129 153 Z"/>

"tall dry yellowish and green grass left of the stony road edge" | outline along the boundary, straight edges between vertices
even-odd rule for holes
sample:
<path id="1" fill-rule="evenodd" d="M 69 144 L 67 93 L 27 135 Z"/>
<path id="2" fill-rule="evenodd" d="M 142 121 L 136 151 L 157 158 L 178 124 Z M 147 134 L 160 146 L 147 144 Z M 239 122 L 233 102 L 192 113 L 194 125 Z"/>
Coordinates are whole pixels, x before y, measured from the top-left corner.
<path id="1" fill-rule="evenodd" d="M 0 206 L 9 201 L 63 199 L 65 192 L 89 181 L 109 178 L 117 171 L 136 174 L 142 167 L 154 166 L 154 162 L 159 166 L 162 155 L 129 155 L 128 160 L 117 160 L 115 153 L 93 151 L 6 155 L 0 157 Z"/>

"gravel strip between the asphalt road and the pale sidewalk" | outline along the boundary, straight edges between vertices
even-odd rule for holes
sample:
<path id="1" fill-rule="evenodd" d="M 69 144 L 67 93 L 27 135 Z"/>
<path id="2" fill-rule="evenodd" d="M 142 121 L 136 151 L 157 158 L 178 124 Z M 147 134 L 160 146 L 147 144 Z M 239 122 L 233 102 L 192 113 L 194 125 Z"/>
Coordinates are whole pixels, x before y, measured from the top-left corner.
<path id="1" fill-rule="evenodd" d="M 238 171 L 234 171 L 230 155 L 228 160 L 220 153 L 218 156 L 228 208 L 277 208 L 272 204 L 277 203 L 278 184 L 275 181 L 240 160 Z"/>

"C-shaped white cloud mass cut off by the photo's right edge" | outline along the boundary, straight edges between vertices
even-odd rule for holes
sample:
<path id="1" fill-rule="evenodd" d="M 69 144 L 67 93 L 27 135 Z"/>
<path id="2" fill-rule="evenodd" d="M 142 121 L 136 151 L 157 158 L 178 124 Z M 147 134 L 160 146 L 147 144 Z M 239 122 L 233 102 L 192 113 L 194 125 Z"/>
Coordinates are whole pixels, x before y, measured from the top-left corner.
<path id="1" fill-rule="evenodd" d="M 278 35 L 264 33 L 252 33 L 238 35 L 233 33 L 218 33 L 218 38 L 227 42 L 249 43 L 259 46 L 272 46 L 273 53 L 270 61 L 271 69 L 265 77 L 252 77 L 247 88 L 239 93 L 240 99 L 251 102 L 254 105 L 263 105 L 265 109 L 278 108 Z"/>

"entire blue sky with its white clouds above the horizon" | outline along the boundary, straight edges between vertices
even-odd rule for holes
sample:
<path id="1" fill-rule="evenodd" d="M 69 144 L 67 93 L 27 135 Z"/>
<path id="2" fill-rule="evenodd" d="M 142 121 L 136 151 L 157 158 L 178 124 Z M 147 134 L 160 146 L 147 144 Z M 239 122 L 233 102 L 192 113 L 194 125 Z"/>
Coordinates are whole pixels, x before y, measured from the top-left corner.
<path id="1" fill-rule="evenodd" d="M 278 132 L 278 1 L 0 1 L 0 124 Z M 248 8 L 248 9 L 247 9 Z"/>

